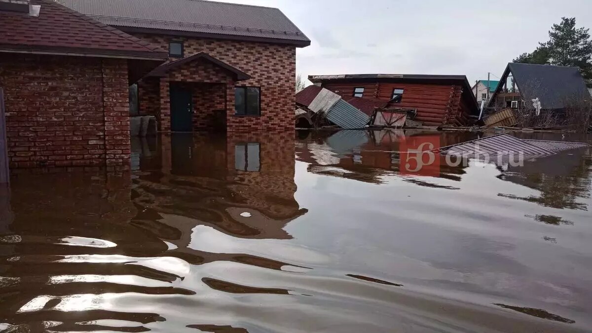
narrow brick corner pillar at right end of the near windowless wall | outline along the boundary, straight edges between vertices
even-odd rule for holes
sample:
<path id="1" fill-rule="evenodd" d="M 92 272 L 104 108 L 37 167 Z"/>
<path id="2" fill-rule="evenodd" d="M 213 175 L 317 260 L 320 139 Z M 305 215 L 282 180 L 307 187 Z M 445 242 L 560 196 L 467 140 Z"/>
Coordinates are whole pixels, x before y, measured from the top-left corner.
<path id="1" fill-rule="evenodd" d="M 105 164 L 130 168 L 130 104 L 127 62 L 102 60 Z"/>

